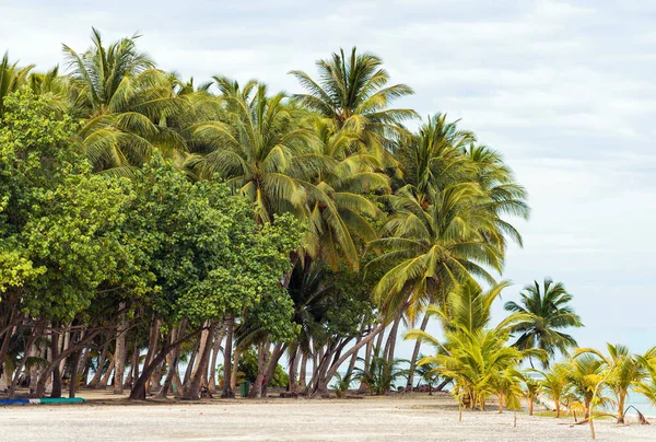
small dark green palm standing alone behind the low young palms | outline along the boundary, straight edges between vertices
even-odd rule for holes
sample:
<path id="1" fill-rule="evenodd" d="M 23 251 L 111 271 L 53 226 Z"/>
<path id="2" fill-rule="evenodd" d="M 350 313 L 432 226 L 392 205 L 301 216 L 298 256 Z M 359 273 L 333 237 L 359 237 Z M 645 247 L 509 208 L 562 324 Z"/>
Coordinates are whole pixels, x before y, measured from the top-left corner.
<path id="1" fill-rule="evenodd" d="M 576 340 L 561 332 L 569 327 L 583 327 L 581 317 L 569 305 L 573 296 L 562 282 L 554 283 L 551 278 L 544 278 L 540 288 L 535 281 L 524 288 L 520 296 L 520 304 L 514 301 L 505 304 L 508 312 L 530 315 L 527 321 L 514 326 L 513 333 L 519 335 L 514 346 L 519 349 L 540 348 L 550 357 L 555 354 L 555 350 L 566 354 L 569 348 L 576 347 Z M 543 364 L 549 367 L 549 361 Z"/>

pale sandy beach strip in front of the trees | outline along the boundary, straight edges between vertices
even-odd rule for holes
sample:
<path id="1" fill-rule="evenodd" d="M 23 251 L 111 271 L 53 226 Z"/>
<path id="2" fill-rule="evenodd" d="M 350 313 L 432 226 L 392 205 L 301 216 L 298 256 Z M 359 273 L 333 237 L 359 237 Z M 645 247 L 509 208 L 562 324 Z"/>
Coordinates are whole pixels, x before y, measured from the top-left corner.
<path id="1" fill-rule="evenodd" d="M 125 405 L 97 394 L 79 406 L 0 408 L 0 441 L 586 441 L 572 419 L 465 412 L 449 395 L 364 399 L 208 400 Z M 107 398 L 110 395 L 107 394 Z M 108 404 L 116 405 L 108 405 Z M 600 441 L 654 441 L 656 424 L 598 420 Z M 653 421 L 653 423 L 656 423 Z"/>

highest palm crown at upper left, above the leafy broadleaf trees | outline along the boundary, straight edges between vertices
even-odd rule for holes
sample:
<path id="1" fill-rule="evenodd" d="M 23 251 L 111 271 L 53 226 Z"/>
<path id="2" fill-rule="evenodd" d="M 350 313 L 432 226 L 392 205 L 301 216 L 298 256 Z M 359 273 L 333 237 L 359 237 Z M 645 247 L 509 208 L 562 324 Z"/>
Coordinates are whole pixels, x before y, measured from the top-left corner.
<path id="1" fill-rule="evenodd" d="M 157 146 L 185 149 L 167 118 L 186 102 L 173 94 L 171 77 L 137 50 L 139 35 L 104 46 L 92 28 L 92 48 L 63 45 L 70 69 L 71 113 L 84 119 L 80 138 L 96 171 L 140 166 Z"/>

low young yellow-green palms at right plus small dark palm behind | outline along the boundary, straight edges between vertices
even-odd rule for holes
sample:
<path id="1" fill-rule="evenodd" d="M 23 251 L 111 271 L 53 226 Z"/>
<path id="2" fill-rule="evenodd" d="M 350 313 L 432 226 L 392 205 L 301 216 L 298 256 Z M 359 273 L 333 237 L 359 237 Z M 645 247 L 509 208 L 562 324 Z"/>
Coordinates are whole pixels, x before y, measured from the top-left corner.
<path id="1" fill-rule="evenodd" d="M 593 348 L 578 348 L 566 327 L 582 326 L 571 305 L 572 295 L 564 286 L 546 279 L 525 287 L 520 302 L 509 301 L 512 312 L 496 326 L 490 327 L 490 307 L 506 283 L 497 283 L 484 292 L 475 282 L 457 287 L 442 306 L 430 305 L 426 314 L 442 321 L 444 338 L 422 330 L 410 330 L 406 339 L 420 339 L 435 347 L 435 356 L 423 357 L 424 376 L 449 380 L 453 393 L 466 408 L 484 409 L 490 396 L 497 398 L 499 412 L 520 408 L 528 403 L 532 416 L 536 402 L 553 408 L 560 418 L 563 410 L 579 423 L 589 422 L 595 438 L 596 407 L 610 414 L 616 409 L 618 423 L 625 422 L 630 392 L 644 395 L 656 405 L 656 347 L 643 354 L 631 353 L 622 345 L 607 347 L 607 353 Z M 514 339 L 509 337 L 514 336 Z M 512 342 L 514 340 L 514 342 Z M 509 345 L 508 342 L 512 342 Z M 560 352 L 565 359 L 553 363 Z M 524 368 L 523 362 L 530 367 Z M 541 370 L 534 367 L 539 361 Z M 641 423 L 648 423 L 637 410 Z"/>

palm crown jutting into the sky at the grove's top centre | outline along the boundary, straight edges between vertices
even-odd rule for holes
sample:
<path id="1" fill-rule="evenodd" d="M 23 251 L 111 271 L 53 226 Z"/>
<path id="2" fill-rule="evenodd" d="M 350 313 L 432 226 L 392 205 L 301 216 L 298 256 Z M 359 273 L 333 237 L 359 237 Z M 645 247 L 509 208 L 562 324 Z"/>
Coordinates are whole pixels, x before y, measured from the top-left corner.
<path id="1" fill-rule="evenodd" d="M 417 114 L 388 106 L 412 94 L 412 89 L 406 84 L 387 85 L 389 74 L 383 68 L 383 60 L 372 54 L 358 54 L 355 47 L 350 56 L 340 49 L 339 54 L 333 53 L 330 59 L 318 60 L 316 65 L 318 81 L 303 71 L 290 72 L 306 90 L 295 98 L 308 109 L 332 119 L 339 129 L 358 133 L 353 150 L 370 150 L 386 165 L 395 164 L 389 155 L 391 141 L 408 135 L 400 123 Z"/>

